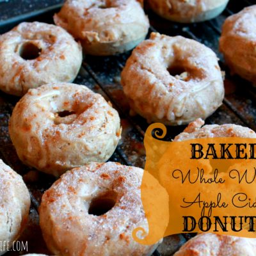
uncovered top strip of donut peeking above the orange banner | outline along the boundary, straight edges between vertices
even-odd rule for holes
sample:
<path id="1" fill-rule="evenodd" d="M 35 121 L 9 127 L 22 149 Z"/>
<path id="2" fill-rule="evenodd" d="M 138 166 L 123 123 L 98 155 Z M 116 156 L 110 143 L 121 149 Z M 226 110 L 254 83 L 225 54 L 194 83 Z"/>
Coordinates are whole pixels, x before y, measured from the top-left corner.
<path id="1" fill-rule="evenodd" d="M 221 137 L 256 138 L 256 133 L 252 129 L 241 125 L 203 125 L 204 121 L 202 119 L 192 122 L 184 132 L 174 138 L 174 141 Z"/>

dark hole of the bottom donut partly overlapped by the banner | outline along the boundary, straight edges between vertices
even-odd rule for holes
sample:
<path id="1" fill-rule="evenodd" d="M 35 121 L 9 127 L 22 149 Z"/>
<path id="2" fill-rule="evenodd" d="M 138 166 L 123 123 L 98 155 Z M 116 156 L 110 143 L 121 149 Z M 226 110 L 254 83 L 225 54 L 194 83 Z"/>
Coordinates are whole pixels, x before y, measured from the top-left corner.
<path id="1" fill-rule="evenodd" d="M 116 193 L 106 193 L 94 198 L 89 207 L 89 214 L 101 216 L 110 211 L 116 204 Z"/>

